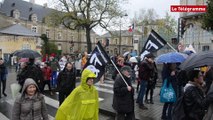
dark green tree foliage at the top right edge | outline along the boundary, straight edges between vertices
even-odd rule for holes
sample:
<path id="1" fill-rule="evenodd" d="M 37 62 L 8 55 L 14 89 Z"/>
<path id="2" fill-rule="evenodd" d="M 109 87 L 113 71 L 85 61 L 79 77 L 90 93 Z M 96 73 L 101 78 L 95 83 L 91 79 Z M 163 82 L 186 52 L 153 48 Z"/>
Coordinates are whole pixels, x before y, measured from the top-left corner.
<path id="1" fill-rule="evenodd" d="M 207 12 L 203 17 L 203 28 L 213 28 L 213 0 L 208 0 Z"/>

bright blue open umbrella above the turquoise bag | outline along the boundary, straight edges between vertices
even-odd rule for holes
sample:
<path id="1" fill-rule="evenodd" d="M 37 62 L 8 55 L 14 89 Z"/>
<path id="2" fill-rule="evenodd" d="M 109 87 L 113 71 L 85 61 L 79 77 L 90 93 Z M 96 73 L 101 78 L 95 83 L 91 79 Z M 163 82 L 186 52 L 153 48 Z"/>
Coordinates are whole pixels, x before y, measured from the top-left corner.
<path id="1" fill-rule="evenodd" d="M 169 52 L 158 56 L 155 59 L 157 64 L 161 63 L 181 63 L 186 60 L 188 55 L 179 52 Z"/>

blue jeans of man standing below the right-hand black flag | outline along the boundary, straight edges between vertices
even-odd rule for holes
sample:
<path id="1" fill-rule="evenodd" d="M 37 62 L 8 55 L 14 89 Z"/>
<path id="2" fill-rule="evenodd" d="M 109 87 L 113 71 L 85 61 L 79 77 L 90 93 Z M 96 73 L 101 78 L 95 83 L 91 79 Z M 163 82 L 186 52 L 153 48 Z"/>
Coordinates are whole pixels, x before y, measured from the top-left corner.
<path id="1" fill-rule="evenodd" d="M 141 80 L 140 91 L 137 98 L 139 105 L 143 105 L 143 97 L 146 92 L 147 83 L 147 80 Z"/>

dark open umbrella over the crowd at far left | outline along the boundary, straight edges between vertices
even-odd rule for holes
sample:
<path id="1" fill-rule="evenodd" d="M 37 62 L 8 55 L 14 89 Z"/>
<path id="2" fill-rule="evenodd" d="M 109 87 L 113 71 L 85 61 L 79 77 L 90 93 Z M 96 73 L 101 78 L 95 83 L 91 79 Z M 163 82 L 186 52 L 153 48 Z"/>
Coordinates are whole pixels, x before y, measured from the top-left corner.
<path id="1" fill-rule="evenodd" d="M 13 53 L 14 56 L 21 57 L 21 58 L 37 58 L 41 57 L 41 55 L 33 50 L 24 49 L 24 50 L 17 50 Z"/>

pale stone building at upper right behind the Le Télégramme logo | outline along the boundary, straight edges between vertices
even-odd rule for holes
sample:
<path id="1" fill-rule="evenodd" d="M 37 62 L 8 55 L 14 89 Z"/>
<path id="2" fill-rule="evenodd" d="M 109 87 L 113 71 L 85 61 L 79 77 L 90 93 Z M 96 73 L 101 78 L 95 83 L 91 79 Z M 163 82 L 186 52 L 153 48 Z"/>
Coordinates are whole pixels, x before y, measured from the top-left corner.
<path id="1" fill-rule="evenodd" d="M 207 5 L 207 0 L 181 0 L 181 5 Z M 202 28 L 202 15 L 204 13 L 185 12 L 180 14 L 179 24 L 185 26 L 184 33 L 180 35 L 184 46 L 190 44 L 199 51 L 213 50 L 213 31 Z"/>

